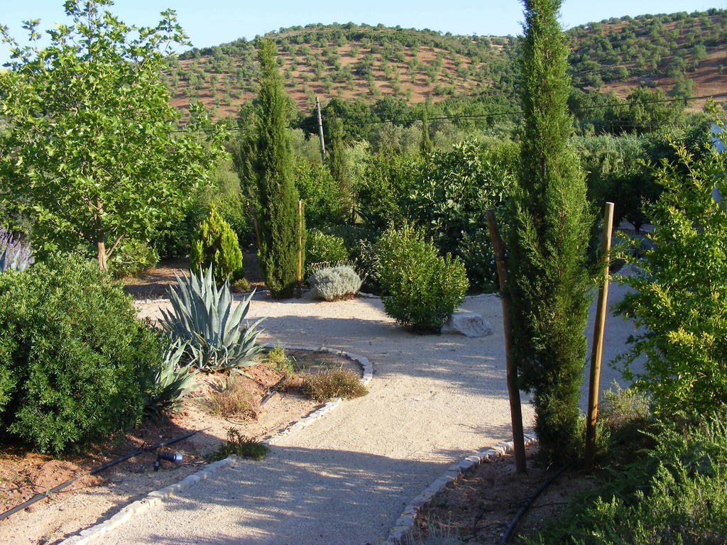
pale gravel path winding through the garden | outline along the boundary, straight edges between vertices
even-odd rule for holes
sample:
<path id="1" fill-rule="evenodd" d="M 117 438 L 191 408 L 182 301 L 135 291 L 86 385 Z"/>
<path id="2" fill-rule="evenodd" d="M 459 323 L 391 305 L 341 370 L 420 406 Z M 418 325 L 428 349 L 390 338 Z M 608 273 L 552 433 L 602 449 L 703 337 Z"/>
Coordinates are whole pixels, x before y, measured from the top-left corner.
<path id="1" fill-rule="evenodd" d="M 623 291 L 612 285 L 609 302 Z M 467 297 L 462 307 L 481 313 L 494 335 L 412 335 L 385 315 L 378 299 L 254 301 L 249 318 L 267 317 L 266 340 L 325 345 L 370 358 L 369 395 L 276 440 L 264 461 L 220 470 L 95 543 L 384 541 L 403 506 L 449 464 L 511 439 L 499 299 Z M 157 309 L 158 303 L 145 304 L 142 315 L 156 315 Z M 593 318 L 588 331 L 592 324 Z M 620 318 L 606 326 L 604 365 L 630 333 Z M 615 377 L 605 366 L 602 387 Z M 532 417 L 531 406 L 523 405 L 526 429 Z"/>

